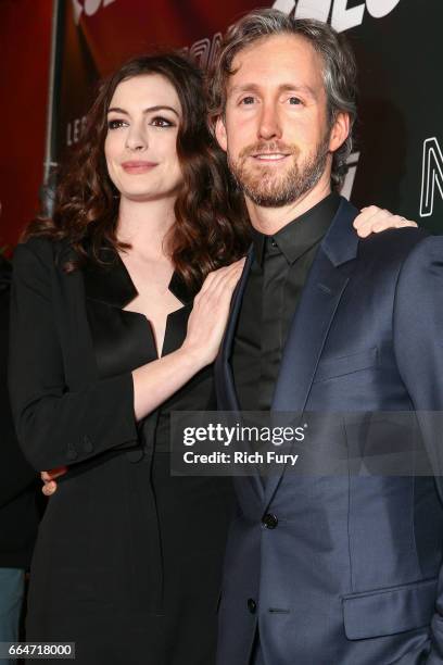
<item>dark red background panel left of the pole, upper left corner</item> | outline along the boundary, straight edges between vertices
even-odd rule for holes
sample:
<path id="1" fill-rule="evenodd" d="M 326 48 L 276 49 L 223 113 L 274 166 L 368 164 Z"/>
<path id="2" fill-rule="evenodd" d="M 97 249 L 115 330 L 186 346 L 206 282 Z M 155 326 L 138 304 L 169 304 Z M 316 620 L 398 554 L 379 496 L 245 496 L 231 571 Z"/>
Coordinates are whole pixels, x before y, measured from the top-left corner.
<path id="1" fill-rule="evenodd" d="M 43 177 L 52 2 L 0 1 L 0 247 L 38 210 Z"/>

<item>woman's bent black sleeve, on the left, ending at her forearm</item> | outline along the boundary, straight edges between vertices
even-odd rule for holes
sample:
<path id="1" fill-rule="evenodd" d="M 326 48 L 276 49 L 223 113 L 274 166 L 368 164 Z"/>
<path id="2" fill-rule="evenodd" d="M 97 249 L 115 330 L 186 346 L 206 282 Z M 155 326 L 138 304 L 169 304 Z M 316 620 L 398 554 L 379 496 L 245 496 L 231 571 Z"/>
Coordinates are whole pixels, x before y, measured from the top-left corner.
<path id="1" fill-rule="evenodd" d="M 130 372 L 98 379 L 78 391 L 66 386 L 51 297 L 53 269 L 52 252 L 45 255 L 38 243 L 17 247 L 9 387 L 18 442 L 38 470 L 77 464 L 138 442 Z"/>

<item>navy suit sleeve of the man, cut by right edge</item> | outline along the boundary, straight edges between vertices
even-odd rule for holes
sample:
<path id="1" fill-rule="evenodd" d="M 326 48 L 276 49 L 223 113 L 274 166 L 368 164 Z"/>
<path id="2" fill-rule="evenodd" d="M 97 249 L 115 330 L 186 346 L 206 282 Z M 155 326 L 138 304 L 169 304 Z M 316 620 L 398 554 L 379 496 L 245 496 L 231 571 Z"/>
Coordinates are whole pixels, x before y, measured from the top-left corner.
<path id="1" fill-rule="evenodd" d="M 443 237 L 428 237 L 404 263 L 394 306 L 397 365 L 417 412 L 443 503 Z M 441 535 L 443 540 L 443 534 Z M 443 566 L 429 665 L 443 662 Z"/>

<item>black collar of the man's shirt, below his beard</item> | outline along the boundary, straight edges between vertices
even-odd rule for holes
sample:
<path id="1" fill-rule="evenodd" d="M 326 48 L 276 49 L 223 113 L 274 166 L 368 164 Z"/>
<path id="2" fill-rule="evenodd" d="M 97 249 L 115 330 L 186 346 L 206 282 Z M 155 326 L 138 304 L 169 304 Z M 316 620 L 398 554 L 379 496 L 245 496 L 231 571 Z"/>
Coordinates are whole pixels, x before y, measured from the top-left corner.
<path id="1" fill-rule="evenodd" d="M 276 234 L 268 236 L 252 229 L 255 258 L 263 265 L 266 246 L 276 243 L 289 264 L 294 263 L 325 236 L 340 205 L 340 197 L 331 192 L 314 208 L 286 224 Z"/>

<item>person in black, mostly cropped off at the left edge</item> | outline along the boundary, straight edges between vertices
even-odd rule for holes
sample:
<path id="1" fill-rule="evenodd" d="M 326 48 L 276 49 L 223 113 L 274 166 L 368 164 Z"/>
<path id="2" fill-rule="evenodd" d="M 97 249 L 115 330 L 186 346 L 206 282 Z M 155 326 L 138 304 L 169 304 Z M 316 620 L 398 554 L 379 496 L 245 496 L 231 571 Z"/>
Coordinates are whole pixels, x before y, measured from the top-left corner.
<path id="1" fill-rule="evenodd" d="M 17 641 L 25 569 L 36 538 L 39 512 L 36 472 L 18 448 L 7 387 L 11 266 L 0 254 L 0 641 Z M 15 663 L 15 658 L 0 663 Z"/>

